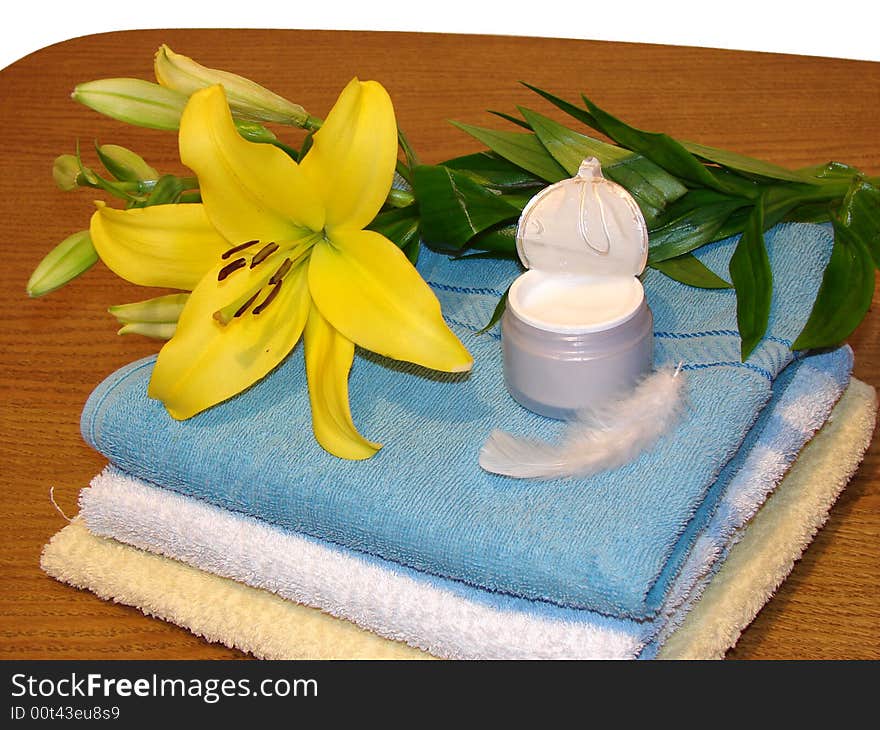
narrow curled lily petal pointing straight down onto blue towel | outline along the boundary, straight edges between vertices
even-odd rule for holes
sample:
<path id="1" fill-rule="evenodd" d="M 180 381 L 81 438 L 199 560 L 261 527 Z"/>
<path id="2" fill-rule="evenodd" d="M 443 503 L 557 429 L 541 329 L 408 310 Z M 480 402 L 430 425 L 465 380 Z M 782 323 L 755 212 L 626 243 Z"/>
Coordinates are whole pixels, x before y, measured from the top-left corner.
<path id="1" fill-rule="evenodd" d="M 309 313 L 304 340 L 315 439 L 334 456 L 369 459 L 382 446 L 361 436 L 351 418 L 348 374 L 354 343 L 339 334 L 315 307 Z"/>

